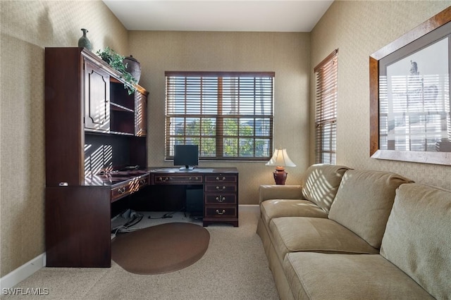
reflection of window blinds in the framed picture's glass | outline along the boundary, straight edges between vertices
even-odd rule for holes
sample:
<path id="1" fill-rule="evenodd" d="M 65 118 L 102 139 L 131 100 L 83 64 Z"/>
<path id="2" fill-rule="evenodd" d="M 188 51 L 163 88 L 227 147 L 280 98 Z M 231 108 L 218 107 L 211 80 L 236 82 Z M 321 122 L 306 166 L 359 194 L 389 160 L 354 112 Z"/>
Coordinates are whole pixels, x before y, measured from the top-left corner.
<path id="1" fill-rule="evenodd" d="M 381 149 L 451 151 L 448 75 L 395 75 L 390 89 L 379 81 Z"/>

